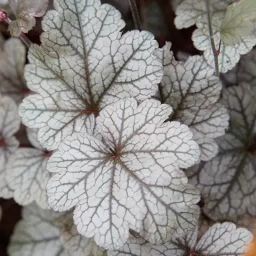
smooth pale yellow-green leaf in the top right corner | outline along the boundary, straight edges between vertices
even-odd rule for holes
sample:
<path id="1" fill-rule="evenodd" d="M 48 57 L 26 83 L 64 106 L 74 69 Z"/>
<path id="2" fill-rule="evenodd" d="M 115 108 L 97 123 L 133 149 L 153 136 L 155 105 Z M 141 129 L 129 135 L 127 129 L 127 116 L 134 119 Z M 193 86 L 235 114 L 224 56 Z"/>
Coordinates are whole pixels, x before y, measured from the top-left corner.
<path id="1" fill-rule="evenodd" d="M 227 7 L 221 22 L 221 40 L 225 45 L 235 45 L 253 31 L 256 19 L 255 0 L 239 0 Z"/>

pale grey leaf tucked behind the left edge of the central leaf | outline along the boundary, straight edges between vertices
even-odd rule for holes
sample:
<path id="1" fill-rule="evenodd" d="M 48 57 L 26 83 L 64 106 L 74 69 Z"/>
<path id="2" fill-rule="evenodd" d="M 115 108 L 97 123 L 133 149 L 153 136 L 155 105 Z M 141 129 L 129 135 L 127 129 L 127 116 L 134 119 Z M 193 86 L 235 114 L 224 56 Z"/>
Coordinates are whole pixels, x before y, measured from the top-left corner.
<path id="1" fill-rule="evenodd" d="M 46 184 L 50 178 L 46 163 L 51 153 L 42 149 L 37 141 L 37 130 L 27 129 L 30 143 L 35 147 L 20 147 L 9 159 L 6 179 L 20 205 L 35 201 L 39 207 L 49 209 Z"/>

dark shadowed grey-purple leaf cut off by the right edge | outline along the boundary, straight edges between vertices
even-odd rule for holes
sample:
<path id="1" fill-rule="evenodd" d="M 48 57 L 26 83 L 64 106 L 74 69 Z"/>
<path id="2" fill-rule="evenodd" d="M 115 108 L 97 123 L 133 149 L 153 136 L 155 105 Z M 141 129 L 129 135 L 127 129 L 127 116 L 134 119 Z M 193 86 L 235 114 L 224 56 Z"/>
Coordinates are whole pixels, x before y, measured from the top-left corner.
<path id="1" fill-rule="evenodd" d="M 255 95 L 255 87 L 245 83 L 225 89 L 223 103 L 231 119 L 228 133 L 217 139 L 219 155 L 187 172 L 211 219 L 236 221 L 245 212 L 256 216 Z"/>

